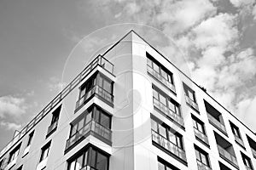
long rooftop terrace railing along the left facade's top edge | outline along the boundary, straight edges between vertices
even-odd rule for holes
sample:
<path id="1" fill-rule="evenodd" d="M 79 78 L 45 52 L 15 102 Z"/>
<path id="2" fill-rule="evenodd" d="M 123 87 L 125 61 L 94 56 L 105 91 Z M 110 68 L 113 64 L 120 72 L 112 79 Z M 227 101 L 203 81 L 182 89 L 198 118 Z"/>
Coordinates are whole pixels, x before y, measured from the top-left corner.
<path id="1" fill-rule="evenodd" d="M 77 77 L 73 79 L 72 82 L 70 82 L 66 88 L 64 88 L 61 93 L 59 93 L 55 99 L 52 99 L 48 105 L 44 107 L 42 111 L 38 113 L 37 116 L 35 116 L 31 122 L 29 122 L 26 127 L 23 127 L 20 131 L 20 133 L 17 133 L 15 137 L 7 144 L 3 150 L 0 152 L 0 157 L 3 156 L 3 154 L 9 150 L 16 142 L 18 142 L 19 139 L 21 139 L 32 127 L 34 127 L 41 119 L 49 112 L 51 109 L 55 107 L 55 105 L 59 104 L 62 99 L 64 99 L 67 94 L 69 94 L 73 88 L 75 88 L 79 82 L 83 81 L 84 77 L 86 77 L 90 71 L 96 68 L 96 66 L 101 66 L 104 70 L 110 72 L 113 74 L 113 64 L 108 61 L 108 59 L 105 59 L 102 57 L 102 55 L 98 55 L 96 59 L 93 59 L 89 65 L 87 65 L 83 71 L 79 73 Z"/>

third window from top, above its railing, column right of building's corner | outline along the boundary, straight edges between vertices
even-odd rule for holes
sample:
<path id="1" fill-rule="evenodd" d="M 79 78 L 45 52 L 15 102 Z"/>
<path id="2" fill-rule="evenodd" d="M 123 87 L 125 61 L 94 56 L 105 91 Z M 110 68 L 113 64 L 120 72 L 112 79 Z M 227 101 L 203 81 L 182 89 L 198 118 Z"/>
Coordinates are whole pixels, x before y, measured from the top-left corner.
<path id="1" fill-rule="evenodd" d="M 183 138 L 181 134 L 172 130 L 172 128 L 167 127 L 164 123 L 156 122 L 154 119 L 151 119 L 151 126 L 155 133 L 160 134 L 161 137 L 164 137 L 183 150 Z"/>

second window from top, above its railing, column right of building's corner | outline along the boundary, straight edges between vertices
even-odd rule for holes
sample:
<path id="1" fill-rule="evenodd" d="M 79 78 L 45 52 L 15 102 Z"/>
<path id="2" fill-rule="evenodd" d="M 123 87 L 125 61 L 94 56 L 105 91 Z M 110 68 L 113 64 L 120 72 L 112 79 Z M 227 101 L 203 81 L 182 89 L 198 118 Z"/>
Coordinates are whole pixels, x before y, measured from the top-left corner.
<path id="1" fill-rule="evenodd" d="M 160 91 L 160 89 L 154 86 L 153 97 L 154 99 L 160 102 L 160 105 L 165 105 L 170 111 L 172 111 L 172 113 L 176 114 L 177 116 L 181 116 L 180 105 L 177 104 L 177 102 L 174 99 L 167 97 L 166 94 L 164 94 Z"/>

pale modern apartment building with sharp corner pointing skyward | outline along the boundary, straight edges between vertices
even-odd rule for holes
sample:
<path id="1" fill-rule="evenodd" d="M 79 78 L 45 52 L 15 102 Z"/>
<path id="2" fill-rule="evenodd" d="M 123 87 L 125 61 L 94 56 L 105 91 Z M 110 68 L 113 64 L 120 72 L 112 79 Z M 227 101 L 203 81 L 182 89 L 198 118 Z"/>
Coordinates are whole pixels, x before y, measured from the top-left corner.
<path id="1" fill-rule="evenodd" d="M 0 163 L 4 170 L 251 170 L 256 136 L 130 31 L 15 134 Z"/>

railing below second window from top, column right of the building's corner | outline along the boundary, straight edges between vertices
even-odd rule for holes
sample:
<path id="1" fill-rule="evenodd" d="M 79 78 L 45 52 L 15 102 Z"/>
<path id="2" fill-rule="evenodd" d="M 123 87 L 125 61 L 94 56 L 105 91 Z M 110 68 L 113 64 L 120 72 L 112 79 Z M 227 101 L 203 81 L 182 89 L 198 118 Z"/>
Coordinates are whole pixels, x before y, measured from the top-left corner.
<path id="1" fill-rule="evenodd" d="M 184 122 L 183 122 L 183 117 L 178 116 L 176 113 L 174 113 L 172 110 L 170 110 L 169 108 L 167 108 L 166 105 L 163 105 L 162 103 L 160 103 L 159 100 L 154 99 L 153 98 L 153 103 L 154 106 L 160 110 L 161 112 L 163 112 L 166 116 L 169 116 L 170 118 L 172 118 L 172 120 L 174 122 L 177 122 L 179 125 L 184 126 Z"/>

